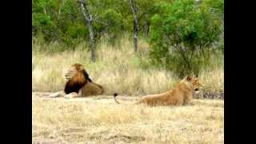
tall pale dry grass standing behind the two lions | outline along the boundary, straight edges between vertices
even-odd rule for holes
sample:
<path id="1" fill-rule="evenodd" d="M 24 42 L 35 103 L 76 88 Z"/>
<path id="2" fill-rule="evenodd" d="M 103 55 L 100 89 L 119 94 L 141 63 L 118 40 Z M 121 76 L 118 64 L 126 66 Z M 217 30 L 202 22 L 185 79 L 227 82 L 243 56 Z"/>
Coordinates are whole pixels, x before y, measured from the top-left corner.
<path id="1" fill-rule="evenodd" d="M 166 70 L 150 66 L 148 45 L 139 41 L 138 54 L 134 54 L 132 42 L 124 37 L 120 46 L 110 46 L 102 41 L 97 50 L 97 62 L 90 62 L 90 52 L 84 50 L 86 43 L 81 43 L 74 51 L 58 53 L 42 52 L 38 49 L 54 50 L 56 42 L 44 45 L 39 40 L 33 41 L 33 91 L 54 92 L 64 86 L 63 71 L 71 64 L 82 63 L 90 78 L 101 84 L 105 94 L 142 95 L 157 94 L 174 87 L 178 78 Z M 206 87 L 204 91 L 223 91 L 223 68 L 216 66 L 211 70 L 202 71 L 199 75 Z"/>

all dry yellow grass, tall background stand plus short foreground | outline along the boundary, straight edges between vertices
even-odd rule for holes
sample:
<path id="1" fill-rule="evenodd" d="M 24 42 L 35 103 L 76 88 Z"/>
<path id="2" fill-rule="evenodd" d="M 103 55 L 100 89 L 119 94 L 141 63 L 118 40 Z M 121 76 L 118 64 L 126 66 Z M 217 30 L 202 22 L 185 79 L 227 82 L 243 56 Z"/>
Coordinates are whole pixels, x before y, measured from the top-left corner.
<path id="1" fill-rule="evenodd" d="M 201 71 L 205 87 L 189 106 L 149 107 L 134 105 L 143 94 L 157 94 L 174 88 L 175 74 L 150 66 L 148 45 L 140 41 L 138 54 L 122 38 L 120 45 L 101 42 L 97 62 L 81 43 L 76 50 L 53 53 L 58 42 L 33 40 L 33 128 L 34 143 L 223 143 L 224 101 L 206 94 L 223 94 L 223 59 Z M 43 50 L 44 49 L 44 50 Z M 47 51 L 47 49 L 49 51 Z M 105 88 L 105 94 L 90 98 L 47 98 L 62 90 L 63 71 L 82 63 L 90 78 Z M 45 92 L 45 93 L 42 93 Z M 110 96 L 120 94 L 116 104 Z"/>

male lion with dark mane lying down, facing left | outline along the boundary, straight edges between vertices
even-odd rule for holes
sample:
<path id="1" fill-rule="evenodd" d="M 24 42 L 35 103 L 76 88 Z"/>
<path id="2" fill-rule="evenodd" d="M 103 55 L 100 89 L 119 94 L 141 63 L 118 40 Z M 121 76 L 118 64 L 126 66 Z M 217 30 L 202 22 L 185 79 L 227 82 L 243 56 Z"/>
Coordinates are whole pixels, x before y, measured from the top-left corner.
<path id="1" fill-rule="evenodd" d="M 77 98 L 103 93 L 103 87 L 92 82 L 89 74 L 81 64 L 75 63 L 70 66 L 66 70 L 65 78 L 67 82 L 64 91 L 58 91 L 55 94 L 51 94 L 50 97 Z"/>

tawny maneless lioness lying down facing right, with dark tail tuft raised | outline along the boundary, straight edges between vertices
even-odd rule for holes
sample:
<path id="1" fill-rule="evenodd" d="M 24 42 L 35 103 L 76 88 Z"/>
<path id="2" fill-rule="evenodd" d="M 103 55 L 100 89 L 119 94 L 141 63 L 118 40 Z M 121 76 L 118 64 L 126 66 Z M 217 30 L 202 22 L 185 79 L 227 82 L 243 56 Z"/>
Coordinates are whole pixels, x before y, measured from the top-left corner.
<path id="1" fill-rule="evenodd" d="M 192 100 L 194 91 L 197 91 L 202 87 L 202 84 L 195 77 L 183 78 L 181 82 L 174 88 L 162 94 L 146 95 L 141 98 L 137 103 L 145 103 L 149 106 L 174 106 L 185 105 Z M 115 97 L 118 94 L 114 94 Z M 119 102 L 118 102 L 119 103 Z"/>

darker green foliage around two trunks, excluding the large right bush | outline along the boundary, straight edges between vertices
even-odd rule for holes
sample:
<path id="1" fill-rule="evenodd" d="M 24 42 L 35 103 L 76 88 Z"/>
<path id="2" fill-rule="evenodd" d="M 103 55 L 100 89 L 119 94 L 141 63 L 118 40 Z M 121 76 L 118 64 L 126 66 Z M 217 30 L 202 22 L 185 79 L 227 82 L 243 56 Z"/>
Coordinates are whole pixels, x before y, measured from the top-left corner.
<path id="1" fill-rule="evenodd" d="M 150 18 L 154 14 L 154 4 L 158 1 L 137 2 L 140 33 L 148 33 Z M 70 47 L 75 47 L 81 40 L 89 42 L 88 28 L 78 1 L 33 0 L 32 2 L 34 35 L 44 34 L 46 42 L 60 41 Z M 133 14 L 127 0 L 89 0 L 87 3 L 94 20 L 96 40 L 106 35 L 109 42 L 114 42 L 120 34 L 133 32 Z M 83 32 L 85 33 L 82 34 Z"/>

